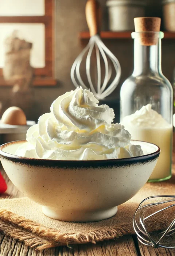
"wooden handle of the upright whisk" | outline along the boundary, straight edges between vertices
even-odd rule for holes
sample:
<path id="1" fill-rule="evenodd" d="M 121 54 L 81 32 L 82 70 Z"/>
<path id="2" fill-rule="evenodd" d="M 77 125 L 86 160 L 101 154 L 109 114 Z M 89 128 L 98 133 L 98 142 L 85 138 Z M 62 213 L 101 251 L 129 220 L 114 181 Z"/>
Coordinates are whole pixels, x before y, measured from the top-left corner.
<path id="1" fill-rule="evenodd" d="M 86 21 L 90 36 L 100 34 L 101 9 L 97 0 L 88 0 L 86 3 Z"/>

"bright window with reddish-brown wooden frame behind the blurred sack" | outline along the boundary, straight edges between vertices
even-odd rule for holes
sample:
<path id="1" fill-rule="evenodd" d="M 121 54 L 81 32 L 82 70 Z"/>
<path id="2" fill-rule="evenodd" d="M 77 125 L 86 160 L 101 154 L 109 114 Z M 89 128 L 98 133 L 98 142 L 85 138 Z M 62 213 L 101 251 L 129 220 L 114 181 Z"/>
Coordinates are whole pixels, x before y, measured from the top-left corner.
<path id="1" fill-rule="evenodd" d="M 19 39 L 32 43 L 30 63 L 35 86 L 53 86 L 54 0 L 0 0 L 0 85 L 4 86 L 5 39 L 16 31 Z"/>

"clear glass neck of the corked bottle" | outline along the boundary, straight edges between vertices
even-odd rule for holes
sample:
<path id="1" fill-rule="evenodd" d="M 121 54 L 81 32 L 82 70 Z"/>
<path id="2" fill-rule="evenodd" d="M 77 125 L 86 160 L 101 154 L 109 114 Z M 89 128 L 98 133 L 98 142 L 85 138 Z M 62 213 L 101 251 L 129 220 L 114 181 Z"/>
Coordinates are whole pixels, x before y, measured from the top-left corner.
<path id="1" fill-rule="evenodd" d="M 154 74 L 162 74 L 161 39 L 155 45 L 144 46 L 139 38 L 135 38 L 133 76 Z"/>

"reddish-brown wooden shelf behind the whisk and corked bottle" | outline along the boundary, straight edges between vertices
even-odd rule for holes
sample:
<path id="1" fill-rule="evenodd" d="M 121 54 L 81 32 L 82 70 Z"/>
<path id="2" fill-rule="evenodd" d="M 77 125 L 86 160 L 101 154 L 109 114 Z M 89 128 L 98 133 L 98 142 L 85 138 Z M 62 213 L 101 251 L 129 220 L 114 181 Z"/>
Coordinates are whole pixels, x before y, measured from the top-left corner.
<path id="1" fill-rule="evenodd" d="M 175 39 L 175 32 L 164 32 L 164 38 L 167 39 Z M 132 39 L 131 38 L 132 31 L 122 31 L 122 32 L 113 32 L 113 31 L 101 31 L 101 38 L 104 39 Z M 89 31 L 82 31 L 79 33 L 80 39 L 89 39 Z"/>

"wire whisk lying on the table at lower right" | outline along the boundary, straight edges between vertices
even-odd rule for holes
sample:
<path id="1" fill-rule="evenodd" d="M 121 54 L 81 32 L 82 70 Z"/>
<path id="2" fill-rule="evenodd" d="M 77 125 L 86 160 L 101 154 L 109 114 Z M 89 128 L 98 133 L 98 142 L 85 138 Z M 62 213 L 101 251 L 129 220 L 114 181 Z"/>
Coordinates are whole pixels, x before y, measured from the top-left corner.
<path id="1" fill-rule="evenodd" d="M 163 226 L 164 230 L 151 233 L 153 226 L 159 229 Z M 154 248 L 175 248 L 175 196 L 152 196 L 144 199 L 136 210 L 133 227 L 142 244 Z"/>

